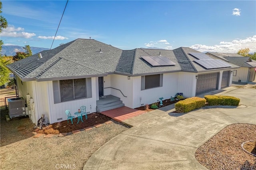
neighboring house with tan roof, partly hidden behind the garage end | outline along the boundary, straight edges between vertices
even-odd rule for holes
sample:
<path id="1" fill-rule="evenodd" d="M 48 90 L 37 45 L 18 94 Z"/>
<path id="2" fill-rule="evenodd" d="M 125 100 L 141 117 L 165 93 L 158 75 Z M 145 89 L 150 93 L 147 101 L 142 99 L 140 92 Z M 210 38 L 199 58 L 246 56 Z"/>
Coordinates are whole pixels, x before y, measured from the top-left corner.
<path id="1" fill-rule="evenodd" d="M 240 66 L 240 68 L 233 71 L 234 82 L 248 83 L 256 80 L 256 61 L 250 57 L 244 57 L 236 53 L 207 52 L 206 54 Z"/>

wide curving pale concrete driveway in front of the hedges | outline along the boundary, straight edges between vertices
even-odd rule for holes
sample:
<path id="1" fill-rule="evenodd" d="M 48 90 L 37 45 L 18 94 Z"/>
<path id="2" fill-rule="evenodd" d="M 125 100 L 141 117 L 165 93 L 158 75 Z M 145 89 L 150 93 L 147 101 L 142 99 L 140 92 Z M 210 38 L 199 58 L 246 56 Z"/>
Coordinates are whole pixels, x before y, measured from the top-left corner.
<path id="1" fill-rule="evenodd" d="M 159 110 L 162 116 L 122 132 L 98 149 L 84 170 L 207 169 L 194 157 L 198 147 L 227 125 L 256 124 L 256 89 L 228 87 L 214 93 L 238 97 L 241 106 L 204 107 L 186 114 Z"/>

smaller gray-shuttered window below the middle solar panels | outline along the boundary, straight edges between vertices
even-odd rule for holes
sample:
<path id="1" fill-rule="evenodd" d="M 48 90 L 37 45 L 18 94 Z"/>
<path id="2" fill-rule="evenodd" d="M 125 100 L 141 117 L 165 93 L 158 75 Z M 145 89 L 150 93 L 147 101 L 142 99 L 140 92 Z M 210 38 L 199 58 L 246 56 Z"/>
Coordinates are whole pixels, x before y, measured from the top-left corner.
<path id="1" fill-rule="evenodd" d="M 151 89 L 155 87 L 162 87 L 163 85 L 163 75 L 145 75 L 141 76 L 141 90 Z"/>

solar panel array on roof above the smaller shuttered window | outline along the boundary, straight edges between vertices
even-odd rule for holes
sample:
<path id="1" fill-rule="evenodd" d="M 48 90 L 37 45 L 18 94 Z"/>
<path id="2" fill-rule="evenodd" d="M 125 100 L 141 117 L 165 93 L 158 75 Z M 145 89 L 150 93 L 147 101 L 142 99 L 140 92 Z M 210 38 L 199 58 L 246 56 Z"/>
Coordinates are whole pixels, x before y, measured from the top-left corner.
<path id="1" fill-rule="evenodd" d="M 142 56 L 142 58 L 152 66 L 176 65 L 176 63 L 164 56 Z"/>

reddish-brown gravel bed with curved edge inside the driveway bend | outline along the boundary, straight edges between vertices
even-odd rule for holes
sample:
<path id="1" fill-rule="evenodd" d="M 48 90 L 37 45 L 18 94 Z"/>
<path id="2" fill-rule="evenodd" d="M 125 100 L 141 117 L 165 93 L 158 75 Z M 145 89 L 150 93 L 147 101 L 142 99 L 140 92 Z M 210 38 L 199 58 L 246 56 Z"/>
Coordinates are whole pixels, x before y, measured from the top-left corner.
<path id="1" fill-rule="evenodd" d="M 210 170 L 256 170 L 256 157 L 241 144 L 256 140 L 256 125 L 232 124 L 196 150 L 196 159 Z"/>

